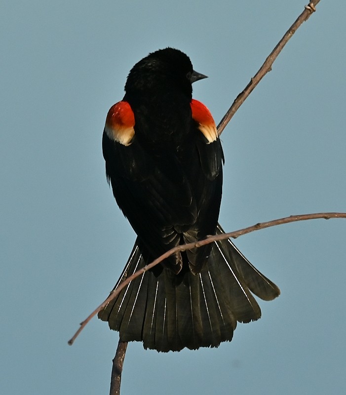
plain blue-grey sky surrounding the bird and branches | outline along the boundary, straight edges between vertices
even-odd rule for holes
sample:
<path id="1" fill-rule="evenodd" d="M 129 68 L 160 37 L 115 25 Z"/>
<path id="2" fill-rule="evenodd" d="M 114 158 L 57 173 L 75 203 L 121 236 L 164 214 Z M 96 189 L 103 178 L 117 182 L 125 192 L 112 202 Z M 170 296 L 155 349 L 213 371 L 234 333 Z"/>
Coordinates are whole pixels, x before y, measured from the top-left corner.
<path id="1" fill-rule="evenodd" d="M 94 318 L 67 341 L 135 239 L 101 150 L 130 68 L 185 51 L 218 123 L 307 2 L 1 2 L 1 394 L 109 393 L 117 333 Z M 227 231 L 346 211 L 345 18 L 345 1 L 321 0 L 222 134 Z M 345 236 L 332 219 L 238 238 L 281 296 L 218 349 L 129 344 L 122 394 L 345 394 Z"/>

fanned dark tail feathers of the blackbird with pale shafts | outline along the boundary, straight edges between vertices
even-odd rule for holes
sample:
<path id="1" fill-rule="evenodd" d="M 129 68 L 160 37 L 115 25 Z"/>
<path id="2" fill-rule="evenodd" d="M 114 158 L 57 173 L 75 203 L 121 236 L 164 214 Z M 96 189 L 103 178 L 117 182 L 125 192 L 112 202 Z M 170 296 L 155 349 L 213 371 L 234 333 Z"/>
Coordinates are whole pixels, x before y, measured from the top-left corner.
<path id="1" fill-rule="evenodd" d="M 218 225 L 216 234 L 222 233 Z M 118 283 L 147 263 L 135 244 Z M 213 243 L 199 274 L 186 271 L 177 281 L 167 269 L 147 271 L 131 281 L 99 318 L 119 331 L 121 341 L 142 341 L 146 349 L 218 347 L 231 341 L 237 321 L 260 318 L 252 293 L 272 300 L 280 290 L 226 239 Z"/>

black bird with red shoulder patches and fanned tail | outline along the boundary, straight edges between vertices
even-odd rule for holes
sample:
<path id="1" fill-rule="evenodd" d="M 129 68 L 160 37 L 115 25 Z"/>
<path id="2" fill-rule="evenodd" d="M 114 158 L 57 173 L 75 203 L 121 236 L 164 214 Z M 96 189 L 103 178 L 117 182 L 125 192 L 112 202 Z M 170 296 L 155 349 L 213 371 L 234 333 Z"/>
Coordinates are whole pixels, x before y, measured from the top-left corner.
<path id="1" fill-rule="evenodd" d="M 132 68 L 124 98 L 108 113 L 107 179 L 138 236 L 119 281 L 176 245 L 223 233 L 223 151 L 209 110 L 192 99 L 192 82 L 202 78 L 183 52 L 158 50 Z M 217 347 L 232 339 L 237 321 L 260 318 L 250 291 L 264 300 L 280 294 L 223 240 L 167 258 L 99 317 L 121 341 L 145 348 Z"/>

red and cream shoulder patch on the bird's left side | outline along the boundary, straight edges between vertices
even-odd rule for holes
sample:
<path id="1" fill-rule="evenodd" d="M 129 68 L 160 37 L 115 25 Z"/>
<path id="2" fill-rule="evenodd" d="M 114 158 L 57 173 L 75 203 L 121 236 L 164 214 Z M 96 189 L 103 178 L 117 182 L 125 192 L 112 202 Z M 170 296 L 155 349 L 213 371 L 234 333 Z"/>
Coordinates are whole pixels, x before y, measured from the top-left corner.
<path id="1" fill-rule="evenodd" d="M 111 140 L 128 146 L 135 135 L 134 125 L 135 116 L 131 106 L 121 101 L 110 108 L 106 118 L 105 132 Z"/>

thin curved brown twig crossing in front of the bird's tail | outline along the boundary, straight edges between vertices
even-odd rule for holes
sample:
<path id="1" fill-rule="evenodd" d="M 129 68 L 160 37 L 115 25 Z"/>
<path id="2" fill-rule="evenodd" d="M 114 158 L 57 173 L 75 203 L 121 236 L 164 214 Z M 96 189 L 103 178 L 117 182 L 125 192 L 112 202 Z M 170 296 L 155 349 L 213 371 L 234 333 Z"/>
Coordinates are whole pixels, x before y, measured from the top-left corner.
<path id="1" fill-rule="evenodd" d="M 346 218 L 346 213 L 315 213 L 315 214 L 291 215 L 290 217 L 258 223 L 256 225 L 249 226 L 248 228 L 240 229 L 235 232 L 225 233 L 223 235 L 217 235 L 217 236 L 216 235 L 209 236 L 203 240 L 199 240 L 193 243 L 178 245 L 177 247 L 170 249 L 169 251 L 165 252 L 163 255 L 156 258 L 149 265 L 135 272 L 132 276 L 129 276 L 124 281 L 122 281 L 113 291 L 111 291 L 109 297 L 103 303 L 101 303 L 101 305 L 97 309 L 95 309 L 83 322 L 80 323 L 80 327 L 78 328 L 75 335 L 68 341 L 68 343 L 70 346 L 72 346 L 79 333 L 83 330 L 83 328 L 91 320 L 91 318 L 95 316 L 97 313 L 99 313 L 102 309 L 104 309 L 109 302 L 115 299 L 116 296 L 120 293 L 120 291 L 130 281 L 132 281 L 138 276 L 141 276 L 143 273 L 147 272 L 148 270 L 150 270 L 151 268 L 162 262 L 164 259 L 168 258 L 170 255 L 173 255 L 179 251 L 186 251 L 186 250 L 191 250 L 192 248 L 198 248 L 201 247 L 202 245 L 212 243 L 213 241 L 224 240 L 225 238 L 230 238 L 230 237 L 237 238 L 239 236 L 246 235 L 247 233 L 258 231 L 260 229 L 269 228 L 271 226 L 288 224 L 290 222 L 297 222 L 297 221 L 307 221 L 310 219 L 321 219 L 321 218 L 323 219 Z"/>

